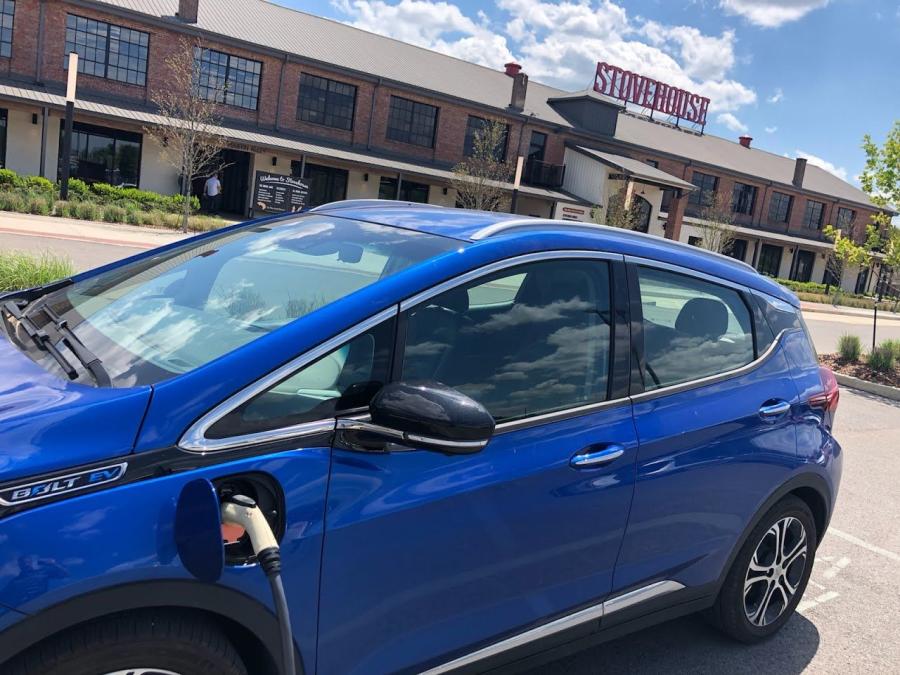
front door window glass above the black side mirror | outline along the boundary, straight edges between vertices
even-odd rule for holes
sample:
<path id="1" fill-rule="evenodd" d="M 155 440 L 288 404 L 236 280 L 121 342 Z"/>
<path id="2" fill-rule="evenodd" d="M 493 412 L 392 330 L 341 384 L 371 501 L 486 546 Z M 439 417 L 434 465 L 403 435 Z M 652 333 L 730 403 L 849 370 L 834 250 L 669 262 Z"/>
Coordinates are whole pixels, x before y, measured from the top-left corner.
<path id="1" fill-rule="evenodd" d="M 454 387 L 498 422 L 604 401 L 608 265 L 554 260 L 476 280 L 410 310 L 406 336 L 404 380 Z"/>

